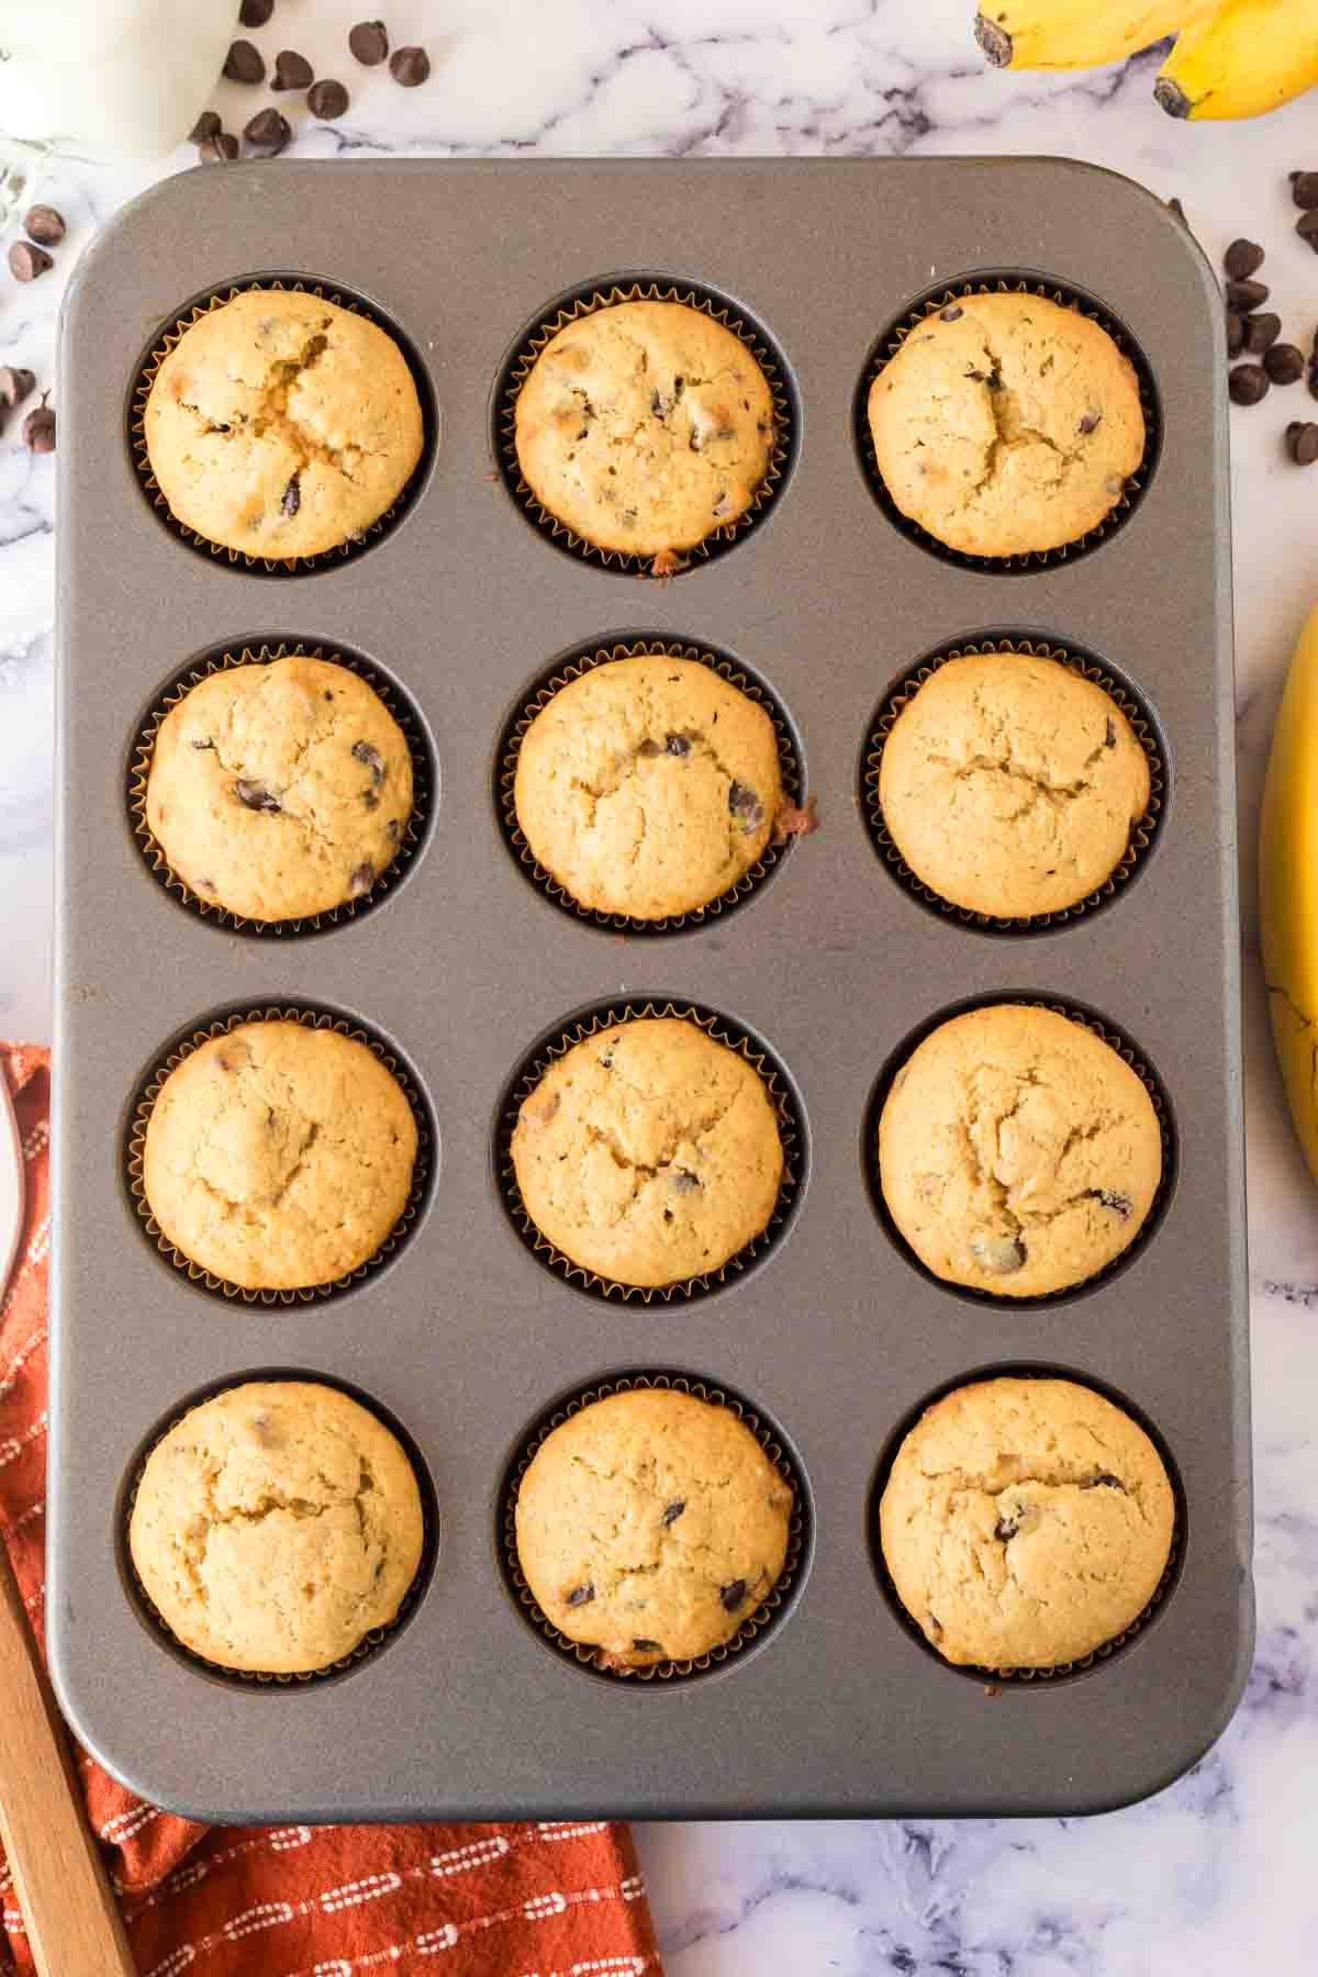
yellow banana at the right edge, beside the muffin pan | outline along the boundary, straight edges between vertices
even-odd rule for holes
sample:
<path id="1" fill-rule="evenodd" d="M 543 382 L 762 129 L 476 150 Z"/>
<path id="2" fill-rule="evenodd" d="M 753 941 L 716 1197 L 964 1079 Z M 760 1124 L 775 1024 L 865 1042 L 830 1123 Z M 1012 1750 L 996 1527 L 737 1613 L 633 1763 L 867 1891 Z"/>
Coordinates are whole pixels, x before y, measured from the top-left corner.
<path id="1" fill-rule="evenodd" d="M 1282 694 L 1259 826 L 1259 919 L 1273 1044 L 1318 1180 L 1318 607 Z"/>

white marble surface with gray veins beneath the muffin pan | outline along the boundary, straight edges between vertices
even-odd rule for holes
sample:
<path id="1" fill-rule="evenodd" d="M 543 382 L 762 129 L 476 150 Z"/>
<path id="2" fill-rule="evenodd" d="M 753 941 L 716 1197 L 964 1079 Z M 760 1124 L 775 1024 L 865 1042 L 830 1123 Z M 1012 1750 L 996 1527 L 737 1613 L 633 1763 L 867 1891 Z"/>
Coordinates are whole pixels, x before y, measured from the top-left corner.
<path id="1" fill-rule="evenodd" d="M 1178 194 L 1213 257 L 1269 245 L 1286 332 L 1318 322 L 1318 261 L 1292 233 L 1290 166 L 1318 168 L 1318 99 L 1188 129 L 1150 103 L 1156 63 L 1002 77 L 972 0 L 403 0 L 395 43 L 435 73 L 399 91 L 344 47 L 360 0 L 279 0 L 255 40 L 352 87 L 298 156 L 1061 152 Z M 265 93 L 225 83 L 241 125 Z M 287 99 L 285 107 L 287 107 Z M 180 170 L 190 154 L 168 160 Z M 51 378 L 63 281 L 97 223 L 154 174 L 51 168 L 71 235 L 57 269 L 0 273 L 0 362 Z M 8 241 L 0 243 L 8 245 Z M 565 271 L 565 279 L 567 279 Z M 1233 415 L 1243 842 L 1284 660 L 1318 599 L 1318 471 L 1280 453 L 1302 387 Z M 51 1030 L 53 463 L 0 439 L 0 1032 Z M 1097 1821 L 767 1823 L 644 1829 L 672 1977 L 751 1971 L 917 1977 L 1261 1977 L 1318 1965 L 1318 1198 L 1278 1101 L 1245 868 L 1259 1657 L 1245 1706 L 1197 1771 Z M 773 1734 L 773 1726 L 761 1726 Z M 875 1765 L 881 1765 L 875 1752 Z"/>

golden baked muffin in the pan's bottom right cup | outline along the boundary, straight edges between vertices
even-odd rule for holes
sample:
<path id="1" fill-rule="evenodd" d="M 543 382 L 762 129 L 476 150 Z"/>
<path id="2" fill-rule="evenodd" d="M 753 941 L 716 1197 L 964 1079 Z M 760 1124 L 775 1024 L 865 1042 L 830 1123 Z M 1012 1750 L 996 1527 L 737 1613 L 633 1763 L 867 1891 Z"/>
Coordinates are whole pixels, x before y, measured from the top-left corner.
<path id="1" fill-rule="evenodd" d="M 978 1380 L 929 1408 L 879 1503 L 897 1597 L 945 1661 L 1055 1669 L 1140 1617 L 1176 1499 L 1128 1414 L 1073 1380 Z"/>

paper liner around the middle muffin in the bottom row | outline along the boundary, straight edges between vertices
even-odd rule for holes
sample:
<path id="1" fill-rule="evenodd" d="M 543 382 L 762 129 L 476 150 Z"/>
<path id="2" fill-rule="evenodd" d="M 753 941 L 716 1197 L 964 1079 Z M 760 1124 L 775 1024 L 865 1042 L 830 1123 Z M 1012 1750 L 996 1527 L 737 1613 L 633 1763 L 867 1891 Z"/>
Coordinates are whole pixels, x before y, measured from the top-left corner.
<path id="1" fill-rule="evenodd" d="M 589 1408 L 597 1400 L 607 1400 L 611 1394 L 630 1394 L 636 1388 L 656 1388 L 674 1394 L 694 1394 L 696 1400 L 713 1402 L 717 1408 L 729 1408 L 739 1421 L 751 1429 L 759 1445 L 769 1455 L 771 1463 L 792 1487 L 792 1516 L 786 1534 L 786 1560 L 783 1572 L 779 1574 L 775 1586 L 767 1597 L 755 1607 L 755 1611 L 741 1623 L 731 1641 L 723 1641 L 719 1647 L 709 1649 L 707 1655 L 700 1655 L 694 1661 L 654 1661 L 644 1669 L 617 1669 L 609 1663 L 601 1647 L 593 1647 L 587 1641 L 571 1641 L 565 1633 L 553 1625 L 551 1619 L 535 1603 L 535 1597 L 526 1584 L 522 1574 L 522 1564 L 518 1558 L 518 1491 L 522 1489 L 522 1477 L 526 1475 L 532 1459 L 545 1441 L 545 1437 L 561 1427 L 563 1421 L 571 1419 L 583 1408 Z M 539 1639 L 549 1641 L 559 1655 L 587 1675 L 597 1676 L 605 1682 L 686 1682 L 701 1675 L 711 1675 L 717 1669 L 727 1667 L 741 1655 L 753 1641 L 763 1641 L 775 1623 L 792 1605 L 792 1586 L 800 1574 L 802 1558 L 810 1548 L 810 1499 L 806 1493 L 804 1479 L 796 1469 L 796 1463 L 786 1453 L 783 1437 L 779 1431 L 761 1419 L 755 1408 L 733 1394 L 723 1382 L 698 1380 L 690 1374 L 617 1374 L 609 1380 L 597 1380 L 593 1386 L 583 1388 L 573 1394 L 571 1400 L 557 1402 L 551 1412 L 539 1418 L 532 1433 L 518 1451 L 514 1463 L 510 1465 L 504 1487 L 498 1499 L 498 1550 L 500 1566 L 504 1572 L 504 1584 L 514 1605 L 526 1619 L 530 1627 L 535 1629 Z"/>

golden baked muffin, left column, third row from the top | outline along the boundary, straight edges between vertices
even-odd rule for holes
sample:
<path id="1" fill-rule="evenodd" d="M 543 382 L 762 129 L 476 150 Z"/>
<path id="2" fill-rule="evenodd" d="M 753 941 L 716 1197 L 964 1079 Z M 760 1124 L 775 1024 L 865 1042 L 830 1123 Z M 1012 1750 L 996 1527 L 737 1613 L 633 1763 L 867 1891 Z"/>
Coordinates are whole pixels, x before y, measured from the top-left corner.
<path id="1" fill-rule="evenodd" d="M 243 1022 L 164 1079 L 142 1190 L 166 1240 L 247 1291 L 334 1283 L 407 1206 L 417 1123 L 373 1050 L 302 1022 Z"/>

